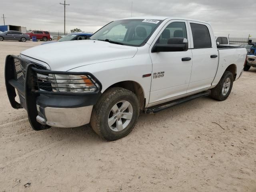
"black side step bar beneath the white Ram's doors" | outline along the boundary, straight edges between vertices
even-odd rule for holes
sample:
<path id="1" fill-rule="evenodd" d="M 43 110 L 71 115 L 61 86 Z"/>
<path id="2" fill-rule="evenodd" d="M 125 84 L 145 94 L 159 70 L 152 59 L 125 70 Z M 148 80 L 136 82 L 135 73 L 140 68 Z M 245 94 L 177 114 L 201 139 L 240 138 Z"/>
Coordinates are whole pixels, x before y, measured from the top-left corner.
<path id="1" fill-rule="evenodd" d="M 210 95 L 209 91 L 200 92 L 200 93 L 190 95 L 190 96 L 187 96 L 187 97 L 184 97 L 184 98 L 176 99 L 176 100 L 173 100 L 173 101 L 161 104 L 161 105 L 146 108 L 145 113 L 157 113 L 157 112 L 160 112 L 160 111 L 162 111 L 166 108 L 170 108 L 174 105 L 178 105 L 178 104 L 181 104 L 181 103 L 184 103 L 184 102 L 187 102 L 187 101 L 199 98 L 199 97 L 208 96 L 208 95 Z"/>

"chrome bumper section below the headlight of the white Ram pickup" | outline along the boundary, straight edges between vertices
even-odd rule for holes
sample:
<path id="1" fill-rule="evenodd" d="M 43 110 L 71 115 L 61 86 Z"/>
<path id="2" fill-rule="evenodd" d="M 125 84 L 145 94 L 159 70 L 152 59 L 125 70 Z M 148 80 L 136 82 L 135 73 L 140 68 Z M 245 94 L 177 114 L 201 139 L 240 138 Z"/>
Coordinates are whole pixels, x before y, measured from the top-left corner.
<path id="1" fill-rule="evenodd" d="M 90 122 L 92 107 L 93 105 L 78 108 L 42 108 L 36 105 L 38 111 L 36 121 L 52 127 L 78 127 Z"/>

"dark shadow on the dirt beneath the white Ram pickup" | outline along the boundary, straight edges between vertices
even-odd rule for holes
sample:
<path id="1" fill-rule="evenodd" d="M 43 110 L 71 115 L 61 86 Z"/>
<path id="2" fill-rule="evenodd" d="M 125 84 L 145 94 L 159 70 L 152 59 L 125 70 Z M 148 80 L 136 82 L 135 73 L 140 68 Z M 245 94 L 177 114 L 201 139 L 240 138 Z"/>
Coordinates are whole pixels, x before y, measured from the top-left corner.
<path id="1" fill-rule="evenodd" d="M 162 124 L 168 119 L 176 120 L 180 118 L 180 116 L 186 116 L 187 113 L 191 110 L 207 108 L 211 105 L 211 102 L 217 102 L 210 97 L 197 98 L 190 102 L 186 102 L 183 104 L 179 104 L 177 106 L 173 106 L 171 108 L 162 110 L 156 114 L 144 114 L 143 112 L 140 114 L 138 122 L 132 130 L 132 132 L 126 137 L 133 137 L 135 135 L 140 135 L 146 132 L 148 128 L 152 128 L 154 132 L 154 124 L 158 124 L 161 122 Z M 184 123 L 186 126 L 186 122 Z M 155 130 L 156 131 L 156 130 Z M 70 140 L 74 140 L 75 142 L 107 142 L 103 138 L 100 138 L 91 128 L 89 124 L 85 126 L 80 126 L 76 128 L 50 128 L 48 130 L 38 131 L 40 137 L 45 139 L 49 139 L 49 136 L 52 140 L 58 140 L 60 138 L 69 138 Z M 154 134 L 154 133 L 153 133 Z"/>

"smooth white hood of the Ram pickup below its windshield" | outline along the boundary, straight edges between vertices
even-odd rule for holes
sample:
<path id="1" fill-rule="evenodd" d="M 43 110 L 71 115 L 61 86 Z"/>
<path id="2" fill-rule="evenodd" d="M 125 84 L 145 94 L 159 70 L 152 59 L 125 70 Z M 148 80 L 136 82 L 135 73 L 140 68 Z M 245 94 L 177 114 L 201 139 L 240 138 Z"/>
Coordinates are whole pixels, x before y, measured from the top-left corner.
<path id="1" fill-rule="evenodd" d="M 132 58 L 137 51 L 138 48 L 132 46 L 77 40 L 36 46 L 21 52 L 21 56 L 45 62 L 51 70 L 68 71 L 88 64 Z"/>

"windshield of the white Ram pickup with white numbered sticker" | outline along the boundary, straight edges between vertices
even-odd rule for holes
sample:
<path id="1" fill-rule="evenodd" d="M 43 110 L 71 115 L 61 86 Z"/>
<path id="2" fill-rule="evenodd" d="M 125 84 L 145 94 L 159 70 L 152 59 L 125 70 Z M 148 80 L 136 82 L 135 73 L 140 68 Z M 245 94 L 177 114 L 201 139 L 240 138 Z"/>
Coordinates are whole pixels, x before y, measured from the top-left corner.
<path id="1" fill-rule="evenodd" d="M 98 30 L 90 39 L 141 46 L 148 40 L 161 22 L 160 20 L 148 19 L 117 20 Z"/>

